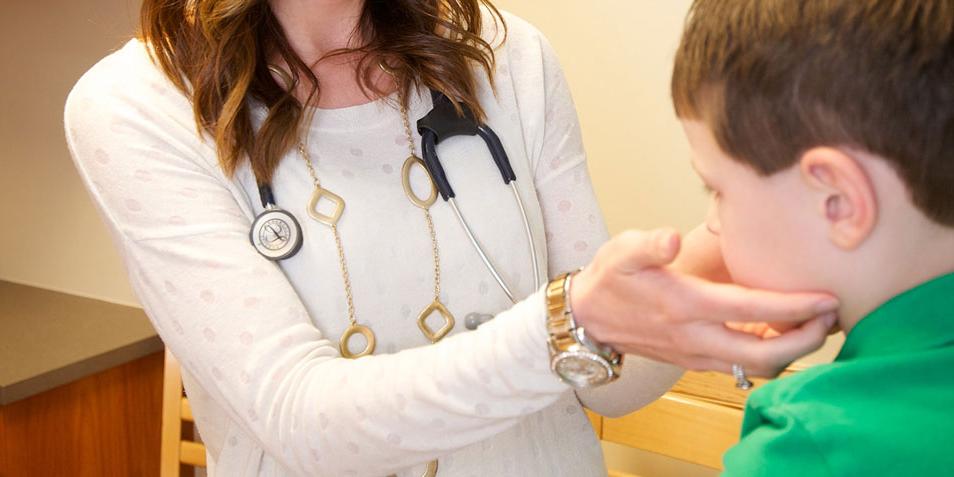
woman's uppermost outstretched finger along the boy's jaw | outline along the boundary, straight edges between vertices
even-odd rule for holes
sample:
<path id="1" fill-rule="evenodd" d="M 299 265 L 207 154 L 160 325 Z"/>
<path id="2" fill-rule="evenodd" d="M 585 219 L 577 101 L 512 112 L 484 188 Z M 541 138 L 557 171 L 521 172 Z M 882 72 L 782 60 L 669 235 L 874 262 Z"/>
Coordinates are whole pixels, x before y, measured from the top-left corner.
<path id="1" fill-rule="evenodd" d="M 682 308 L 692 319 L 801 322 L 834 312 L 839 306 L 835 297 L 822 293 L 780 293 L 692 276 L 678 278 L 685 286 Z"/>

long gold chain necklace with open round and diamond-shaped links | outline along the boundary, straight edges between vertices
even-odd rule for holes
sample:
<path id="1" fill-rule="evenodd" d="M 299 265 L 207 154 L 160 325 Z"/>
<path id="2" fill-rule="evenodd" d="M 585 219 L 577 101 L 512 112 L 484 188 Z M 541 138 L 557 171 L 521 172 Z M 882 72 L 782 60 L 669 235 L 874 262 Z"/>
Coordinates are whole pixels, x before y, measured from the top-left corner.
<path id="1" fill-rule="evenodd" d="M 424 334 L 424 337 L 427 338 L 432 343 L 436 343 L 447 336 L 448 333 L 454 328 L 456 320 L 454 315 L 447 309 L 447 307 L 441 302 L 440 293 L 441 293 L 441 265 L 440 265 L 440 247 L 437 242 L 437 233 L 434 228 L 434 220 L 431 217 L 430 207 L 437 200 L 437 187 L 434 185 L 434 181 L 431 179 L 430 174 L 427 172 L 427 168 L 424 167 L 424 162 L 417 157 L 417 154 L 414 151 L 414 136 L 411 133 L 411 123 L 408 118 L 407 106 L 405 106 L 403 96 L 401 100 L 401 117 L 404 122 L 404 133 L 408 141 L 408 150 L 410 155 L 404 161 L 404 166 L 402 167 L 402 183 L 404 186 L 404 192 L 407 195 L 408 199 L 412 204 L 420 208 L 424 212 L 424 219 L 427 224 L 428 232 L 431 237 L 431 251 L 433 253 L 434 259 L 434 299 L 427 305 L 424 310 L 418 315 L 417 325 L 420 328 L 421 333 Z M 311 175 L 312 181 L 315 184 L 315 191 L 312 193 L 311 200 L 308 203 L 308 215 L 311 218 L 317 220 L 318 222 L 327 225 L 331 228 L 332 233 L 335 238 L 335 247 L 338 251 L 338 264 L 341 269 L 341 278 L 344 282 L 345 288 L 345 297 L 348 303 L 348 320 L 350 325 L 341 335 L 338 341 L 338 348 L 341 356 L 348 359 L 356 359 L 362 356 L 367 356 L 374 353 L 374 348 L 376 345 L 376 338 L 374 332 L 371 331 L 371 328 L 366 325 L 361 325 L 358 323 L 356 318 L 355 306 L 354 306 L 354 295 L 351 288 L 351 275 L 348 272 L 348 262 L 345 257 L 344 247 L 341 241 L 341 234 L 338 231 L 338 221 L 341 219 L 341 215 L 344 213 L 345 201 L 344 199 L 334 192 L 328 190 L 327 188 L 321 185 L 321 180 L 318 179 L 318 173 L 315 171 L 315 167 L 312 163 L 311 155 L 308 153 L 308 149 L 305 147 L 303 142 L 298 143 L 298 153 L 301 155 L 302 160 L 305 161 L 305 165 L 308 167 L 308 173 Z M 428 185 L 430 186 L 430 193 L 427 198 L 421 199 L 418 197 L 414 190 L 411 188 L 411 172 L 413 171 L 414 166 L 420 167 L 427 177 Z M 334 204 L 334 210 L 330 214 L 323 214 L 318 211 L 318 203 L 321 199 L 327 199 Z M 443 318 L 443 325 L 437 330 L 431 329 L 427 324 L 427 319 L 437 313 Z M 366 345 L 365 348 L 358 352 L 352 353 L 349 343 L 355 335 L 362 335 L 365 338 Z"/>

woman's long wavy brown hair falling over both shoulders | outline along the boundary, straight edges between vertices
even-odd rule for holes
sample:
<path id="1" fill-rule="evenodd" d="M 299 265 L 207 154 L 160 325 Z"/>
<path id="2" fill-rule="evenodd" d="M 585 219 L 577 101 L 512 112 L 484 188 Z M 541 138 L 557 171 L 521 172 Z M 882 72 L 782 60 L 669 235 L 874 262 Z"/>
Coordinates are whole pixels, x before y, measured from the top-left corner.
<path id="1" fill-rule="evenodd" d="M 481 4 L 506 35 L 490 0 L 365 0 L 354 32 L 362 44 L 325 57 L 360 54 L 355 74 L 365 93 L 386 94 L 372 81 L 382 63 L 405 103 L 412 87 L 428 87 L 483 118 L 474 65 L 492 81 L 494 53 L 480 36 Z M 215 139 L 223 172 L 232 177 L 247 156 L 258 180 L 270 182 L 308 117 L 294 88 L 274 79 L 268 59 L 281 58 L 291 69 L 287 74 L 311 86 L 304 104 L 314 104 L 320 91 L 268 1 L 143 0 L 140 23 L 139 38 L 150 46 L 153 61 L 191 98 L 199 132 Z M 257 131 L 250 116 L 253 100 L 268 108 Z"/>

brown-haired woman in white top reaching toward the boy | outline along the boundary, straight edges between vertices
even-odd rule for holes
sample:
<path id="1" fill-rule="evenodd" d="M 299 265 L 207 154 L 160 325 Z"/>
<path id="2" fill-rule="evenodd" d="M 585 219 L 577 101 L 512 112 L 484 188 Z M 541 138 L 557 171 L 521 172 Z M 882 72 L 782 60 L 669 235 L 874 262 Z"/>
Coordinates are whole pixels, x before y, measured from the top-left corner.
<path id="1" fill-rule="evenodd" d="M 624 414 L 679 376 L 638 356 L 602 386 L 551 372 L 544 290 L 483 144 L 448 141 L 441 155 L 516 305 L 406 160 L 428 88 L 500 133 L 538 271 L 587 263 L 606 235 L 566 82 L 543 37 L 487 2 L 146 0 L 141 38 L 71 93 L 74 160 L 182 363 L 213 475 L 416 476 L 435 459 L 448 476 L 605 475 L 581 403 Z M 277 264 L 249 243 L 264 185 L 303 229 Z M 274 227 L 259 232 L 288 236 Z M 820 344 L 819 319 L 771 342 L 725 329 L 834 304 L 660 268 L 678 245 L 624 234 L 575 276 L 569 298 L 593 340 L 757 374 Z M 471 313 L 495 318 L 464 331 Z"/>

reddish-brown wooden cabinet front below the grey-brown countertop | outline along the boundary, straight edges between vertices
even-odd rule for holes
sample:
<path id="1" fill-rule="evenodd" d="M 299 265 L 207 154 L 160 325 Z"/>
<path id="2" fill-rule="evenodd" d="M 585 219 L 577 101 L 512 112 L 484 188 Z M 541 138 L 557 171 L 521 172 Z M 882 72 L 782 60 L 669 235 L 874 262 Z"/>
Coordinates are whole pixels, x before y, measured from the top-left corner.
<path id="1" fill-rule="evenodd" d="M 162 353 L 0 407 L 3 477 L 157 476 Z"/>

